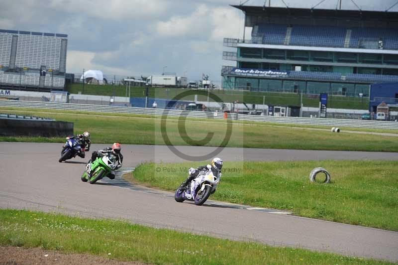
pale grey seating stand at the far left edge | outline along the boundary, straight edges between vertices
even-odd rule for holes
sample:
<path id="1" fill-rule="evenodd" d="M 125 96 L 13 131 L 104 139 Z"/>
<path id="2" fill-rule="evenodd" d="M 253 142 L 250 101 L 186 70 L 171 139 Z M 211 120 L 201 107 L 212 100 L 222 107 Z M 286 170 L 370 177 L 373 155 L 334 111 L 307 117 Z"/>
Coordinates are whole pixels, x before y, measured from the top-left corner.
<path id="1" fill-rule="evenodd" d="M 0 29 L 0 87 L 64 89 L 67 37 Z"/>

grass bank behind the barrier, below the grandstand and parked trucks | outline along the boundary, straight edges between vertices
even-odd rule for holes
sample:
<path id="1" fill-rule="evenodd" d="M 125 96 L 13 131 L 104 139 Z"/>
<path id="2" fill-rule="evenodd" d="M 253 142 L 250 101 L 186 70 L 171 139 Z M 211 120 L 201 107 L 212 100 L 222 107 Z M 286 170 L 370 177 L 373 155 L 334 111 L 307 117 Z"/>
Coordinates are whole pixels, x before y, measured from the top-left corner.
<path id="1" fill-rule="evenodd" d="M 130 97 L 145 97 L 145 87 L 131 87 Z M 168 91 L 167 91 L 168 90 Z M 149 97 L 160 99 L 172 99 L 178 94 L 187 91 L 182 88 L 149 88 Z M 82 84 L 72 84 L 68 89 L 72 94 L 83 92 Z M 275 93 L 275 92 L 255 92 L 255 91 L 233 91 L 233 90 L 211 90 L 211 93 L 221 98 L 223 102 L 245 102 L 247 104 L 265 104 L 271 106 L 299 106 L 299 94 L 297 93 Z M 103 96 L 126 96 L 126 87 L 123 85 L 85 85 L 84 94 L 103 95 Z M 328 108 L 337 109 L 358 109 L 367 110 L 369 108 L 368 98 L 354 98 L 342 96 L 328 96 Z M 185 98 L 194 101 L 194 95 Z M 199 101 L 207 101 L 206 95 L 198 95 Z M 319 95 L 303 95 L 305 107 L 319 107 Z"/>

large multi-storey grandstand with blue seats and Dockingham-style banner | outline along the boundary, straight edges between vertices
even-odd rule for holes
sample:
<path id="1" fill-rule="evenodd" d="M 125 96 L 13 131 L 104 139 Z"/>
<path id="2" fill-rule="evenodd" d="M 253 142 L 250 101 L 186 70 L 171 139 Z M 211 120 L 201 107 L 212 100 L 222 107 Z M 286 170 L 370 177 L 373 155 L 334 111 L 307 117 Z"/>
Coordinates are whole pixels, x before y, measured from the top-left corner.
<path id="1" fill-rule="evenodd" d="M 398 12 L 232 5 L 251 39 L 224 39 L 223 89 L 369 96 L 398 82 Z"/>

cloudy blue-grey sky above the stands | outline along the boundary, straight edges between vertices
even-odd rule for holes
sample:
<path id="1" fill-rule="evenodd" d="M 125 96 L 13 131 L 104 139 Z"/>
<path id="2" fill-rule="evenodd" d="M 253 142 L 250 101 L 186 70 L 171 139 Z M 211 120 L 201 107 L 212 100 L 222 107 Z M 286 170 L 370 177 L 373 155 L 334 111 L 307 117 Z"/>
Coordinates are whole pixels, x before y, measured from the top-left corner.
<path id="1" fill-rule="evenodd" d="M 320 0 L 285 0 L 290 7 L 310 8 Z M 397 0 L 355 0 L 363 10 L 386 10 Z M 244 2 L 244 0 L 242 0 Z M 67 72 L 101 70 L 136 76 L 177 73 L 199 80 L 202 73 L 216 84 L 224 37 L 243 37 L 239 0 L 3 0 L 0 28 L 68 34 Z M 325 0 L 317 8 L 336 7 Z M 245 5 L 263 5 L 249 0 Z M 267 2 L 268 4 L 268 2 Z M 271 6 L 285 6 L 271 0 Z M 343 0 L 342 9 L 356 9 Z M 398 11 L 395 6 L 392 11 Z M 250 32 L 250 31 L 249 31 Z M 164 68 L 165 67 L 165 68 Z"/>

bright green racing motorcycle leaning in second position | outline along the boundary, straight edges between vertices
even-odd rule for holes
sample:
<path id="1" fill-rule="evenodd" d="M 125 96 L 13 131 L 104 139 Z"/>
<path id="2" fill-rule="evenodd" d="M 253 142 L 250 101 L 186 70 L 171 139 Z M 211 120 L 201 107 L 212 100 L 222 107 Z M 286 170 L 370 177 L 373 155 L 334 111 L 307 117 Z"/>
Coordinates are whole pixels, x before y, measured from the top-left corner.
<path id="1" fill-rule="evenodd" d="M 87 164 L 86 170 L 82 175 L 82 181 L 90 181 L 90 184 L 94 184 L 110 174 L 112 170 L 117 169 L 118 166 L 119 163 L 117 157 L 111 153 L 97 157 L 96 160 Z M 92 172 L 91 177 L 89 172 Z"/>

